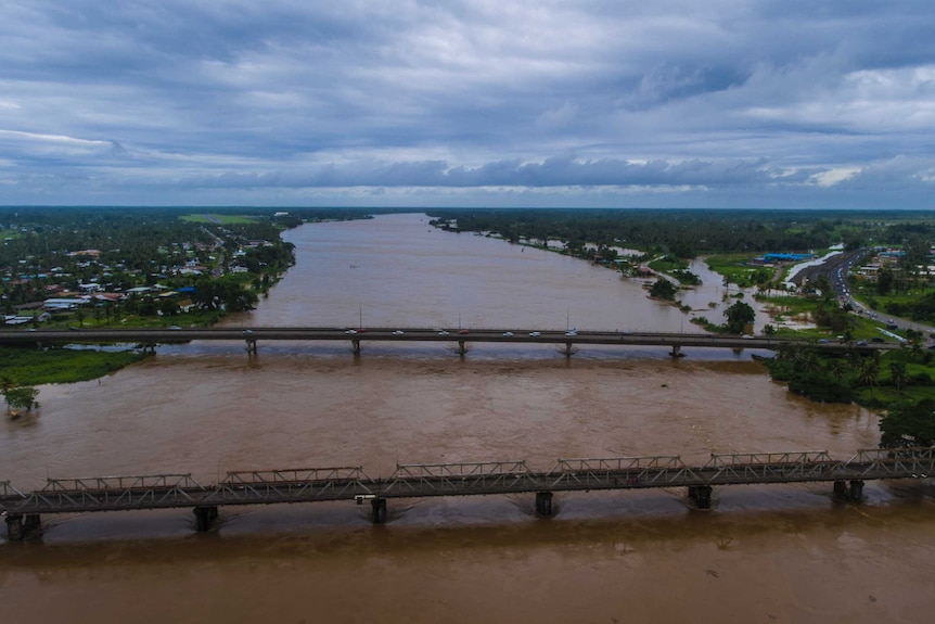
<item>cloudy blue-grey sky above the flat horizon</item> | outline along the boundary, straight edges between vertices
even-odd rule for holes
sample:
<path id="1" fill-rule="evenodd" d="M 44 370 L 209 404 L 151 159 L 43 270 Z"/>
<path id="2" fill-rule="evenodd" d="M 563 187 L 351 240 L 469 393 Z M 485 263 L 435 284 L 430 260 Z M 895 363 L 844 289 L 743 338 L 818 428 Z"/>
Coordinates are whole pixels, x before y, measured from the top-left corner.
<path id="1" fill-rule="evenodd" d="M 0 204 L 935 208 L 932 0 L 0 0 Z"/>

